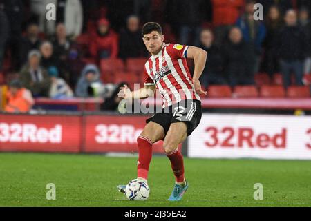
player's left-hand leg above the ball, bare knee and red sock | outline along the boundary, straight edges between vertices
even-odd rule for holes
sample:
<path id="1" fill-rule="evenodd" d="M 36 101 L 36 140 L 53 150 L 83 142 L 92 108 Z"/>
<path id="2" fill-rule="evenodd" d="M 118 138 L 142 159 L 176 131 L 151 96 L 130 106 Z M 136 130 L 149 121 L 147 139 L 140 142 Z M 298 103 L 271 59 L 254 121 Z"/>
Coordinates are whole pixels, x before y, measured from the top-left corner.
<path id="1" fill-rule="evenodd" d="M 138 179 L 147 182 L 149 165 L 152 158 L 152 144 L 164 137 L 164 129 L 156 122 L 149 122 L 138 136 Z"/>

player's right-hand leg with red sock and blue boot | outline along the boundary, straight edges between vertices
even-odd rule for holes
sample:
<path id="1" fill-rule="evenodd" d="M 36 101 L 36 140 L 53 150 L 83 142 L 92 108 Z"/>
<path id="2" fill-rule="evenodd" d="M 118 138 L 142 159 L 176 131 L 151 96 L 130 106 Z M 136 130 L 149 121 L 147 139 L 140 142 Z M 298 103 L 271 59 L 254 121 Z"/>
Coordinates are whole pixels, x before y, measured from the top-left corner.
<path id="1" fill-rule="evenodd" d="M 185 180 L 184 159 L 178 150 L 178 144 L 183 142 L 187 137 L 187 126 L 184 122 L 172 123 L 167 136 L 164 139 L 164 151 L 171 161 L 171 169 L 176 177 L 176 184 L 173 188 L 170 201 L 182 199 L 182 195 L 188 189 L 188 183 Z"/>

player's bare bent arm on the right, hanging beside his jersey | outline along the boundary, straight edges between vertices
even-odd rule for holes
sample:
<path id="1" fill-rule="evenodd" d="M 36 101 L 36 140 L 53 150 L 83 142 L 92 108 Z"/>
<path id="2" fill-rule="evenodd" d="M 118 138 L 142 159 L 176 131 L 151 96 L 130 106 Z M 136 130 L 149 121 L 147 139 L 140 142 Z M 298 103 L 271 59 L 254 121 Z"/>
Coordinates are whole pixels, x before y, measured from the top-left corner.
<path id="1" fill-rule="evenodd" d="M 199 78 L 205 68 L 207 52 L 201 48 L 189 46 L 187 49 L 187 58 L 194 59 L 194 77 L 192 77 L 192 82 L 194 83 L 196 93 L 199 95 L 207 95 L 206 91 L 202 90 L 199 81 Z"/>

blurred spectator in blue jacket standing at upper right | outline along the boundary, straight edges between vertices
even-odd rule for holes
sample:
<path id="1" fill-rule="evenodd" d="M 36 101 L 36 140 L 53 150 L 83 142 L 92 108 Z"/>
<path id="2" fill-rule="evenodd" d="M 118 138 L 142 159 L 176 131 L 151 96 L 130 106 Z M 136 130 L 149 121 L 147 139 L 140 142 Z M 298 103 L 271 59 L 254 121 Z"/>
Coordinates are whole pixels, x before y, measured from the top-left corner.
<path id="1" fill-rule="evenodd" d="M 255 64 L 254 73 L 258 73 L 261 61 L 262 44 L 265 39 L 265 25 L 261 21 L 254 20 L 254 0 L 248 0 L 245 5 L 245 12 L 236 21 L 236 26 L 241 29 L 243 40 L 254 48 Z"/>

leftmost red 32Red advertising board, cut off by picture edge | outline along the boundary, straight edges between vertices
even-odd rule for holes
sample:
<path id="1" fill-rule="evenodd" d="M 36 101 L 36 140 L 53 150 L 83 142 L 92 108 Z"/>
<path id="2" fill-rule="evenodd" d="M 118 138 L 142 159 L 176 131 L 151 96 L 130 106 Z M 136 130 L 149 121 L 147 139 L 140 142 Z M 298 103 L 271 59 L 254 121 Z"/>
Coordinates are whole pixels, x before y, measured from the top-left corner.
<path id="1" fill-rule="evenodd" d="M 0 115 L 0 151 L 78 153 L 81 117 Z"/>

